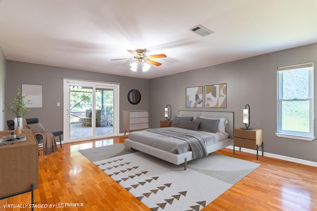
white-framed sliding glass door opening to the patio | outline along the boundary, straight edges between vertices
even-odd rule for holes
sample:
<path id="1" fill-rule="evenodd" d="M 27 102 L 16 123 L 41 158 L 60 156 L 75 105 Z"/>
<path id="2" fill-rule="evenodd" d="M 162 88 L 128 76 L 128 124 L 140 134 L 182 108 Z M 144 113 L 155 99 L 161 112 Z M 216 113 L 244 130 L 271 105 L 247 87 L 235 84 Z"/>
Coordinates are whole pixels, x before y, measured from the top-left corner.
<path id="1" fill-rule="evenodd" d="M 64 141 L 117 135 L 117 95 L 118 84 L 64 79 Z"/>

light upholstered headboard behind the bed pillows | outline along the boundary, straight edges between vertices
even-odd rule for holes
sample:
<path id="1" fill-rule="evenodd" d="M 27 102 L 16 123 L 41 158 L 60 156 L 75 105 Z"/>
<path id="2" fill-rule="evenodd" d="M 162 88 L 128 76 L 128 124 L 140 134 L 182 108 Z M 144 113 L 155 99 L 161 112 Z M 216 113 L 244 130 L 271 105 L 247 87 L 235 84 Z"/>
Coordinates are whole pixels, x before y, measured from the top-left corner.
<path id="1" fill-rule="evenodd" d="M 207 117 L 207 118 L 226 118 L 228 124 L 226 127 L 226 132 L 229 133 L 229 138 L 233 138 L 234 129 L 234 112 L 226 111 L 179 111 L 179 116 L 183 117 Z"/>

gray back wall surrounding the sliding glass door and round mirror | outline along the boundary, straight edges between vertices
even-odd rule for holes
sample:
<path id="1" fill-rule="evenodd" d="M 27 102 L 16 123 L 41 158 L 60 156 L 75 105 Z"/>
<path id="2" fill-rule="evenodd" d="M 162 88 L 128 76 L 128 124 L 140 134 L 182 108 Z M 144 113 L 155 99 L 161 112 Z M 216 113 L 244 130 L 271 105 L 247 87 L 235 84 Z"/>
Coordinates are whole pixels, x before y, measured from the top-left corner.
<path id="1" fill-rule="evenodd" d="M 127 68 L 127 71 L 129 71 L 129 68 Z M 11 103 L 10 99 L 16 95 L 17 85 L 20 88 L 21 84 L 43 85 L 43 108 L 31 108 L 31 112 L 24 117 L 39 118 L 43 127 L 48 131 L 63 130 L 63 80 L 61 78 L 120 83 L 120 132 L 124 132 L 122 129 L 122 113 L 124 110 L 149 110 L 148 79 L 93 73 L 11 60 L 7 61 L 7 101 Z M 142 95 L 141 102 L 137 105 L 132 105 L 127 100 L 127 93 L 132 88 L 138 89 Z M 60 107 L 56 106 L 57 102 L 60 102 Z M 6 112 L 5 120 L 12 118 L 14 116 Z"/>

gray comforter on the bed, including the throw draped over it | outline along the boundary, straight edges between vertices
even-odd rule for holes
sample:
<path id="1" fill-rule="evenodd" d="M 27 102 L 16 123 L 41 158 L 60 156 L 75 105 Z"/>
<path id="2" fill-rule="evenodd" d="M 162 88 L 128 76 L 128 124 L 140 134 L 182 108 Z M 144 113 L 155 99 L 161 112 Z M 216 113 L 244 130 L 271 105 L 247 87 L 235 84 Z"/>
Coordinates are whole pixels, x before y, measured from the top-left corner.
<path id="1" fill-rule="evenodd" d="M 178 127 L 163 127 L 131 132 L 129 139 L 175 154 L 191 150 L 194 158 L 208 155 L 206 145 L 215 142 L 215 137 L 211 133 L 207 134 L 207 132 Z"/>

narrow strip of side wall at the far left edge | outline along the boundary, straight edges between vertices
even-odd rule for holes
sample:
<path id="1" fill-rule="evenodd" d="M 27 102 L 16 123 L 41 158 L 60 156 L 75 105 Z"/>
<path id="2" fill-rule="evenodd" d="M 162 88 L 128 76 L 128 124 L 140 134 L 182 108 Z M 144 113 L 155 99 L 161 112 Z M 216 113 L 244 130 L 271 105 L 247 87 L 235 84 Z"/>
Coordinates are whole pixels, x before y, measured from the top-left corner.
<path id="1" fill-rule="evenodd" d="M 5 100 L 5 77 L 6 77 L 6 59 L 4 57 L 1 45 L 0 45 L 0 130 L 4 130 L 6 124 L 3 121 L 5 114 L 2 113 L 4 108 L 3 101 Z"/>

